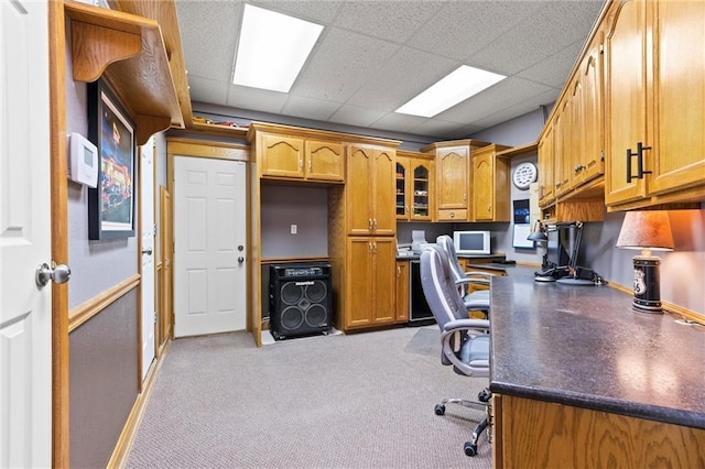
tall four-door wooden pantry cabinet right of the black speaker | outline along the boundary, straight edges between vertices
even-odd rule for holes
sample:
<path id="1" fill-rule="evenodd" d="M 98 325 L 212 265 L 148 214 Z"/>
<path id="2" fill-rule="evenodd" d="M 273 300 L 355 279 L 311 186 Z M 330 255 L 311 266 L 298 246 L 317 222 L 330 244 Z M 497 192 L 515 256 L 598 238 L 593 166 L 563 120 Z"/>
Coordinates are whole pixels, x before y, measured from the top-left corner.
<path id="1" fill-rule="evenodd" d="M 346 144 L 345 186 L 328 192 L 336 327 L 395 320 L 395 141 Z"/>

